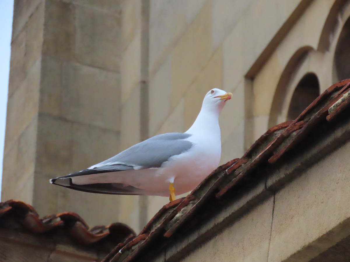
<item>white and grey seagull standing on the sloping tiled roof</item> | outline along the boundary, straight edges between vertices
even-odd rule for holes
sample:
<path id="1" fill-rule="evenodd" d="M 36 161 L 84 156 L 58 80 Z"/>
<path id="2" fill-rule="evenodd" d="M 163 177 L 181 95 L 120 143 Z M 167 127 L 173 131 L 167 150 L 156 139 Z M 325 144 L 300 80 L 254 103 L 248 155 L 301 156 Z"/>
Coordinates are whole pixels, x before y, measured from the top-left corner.
<path id="1" fill-rule="evenodd" d="M 219 115 L 232 93 L 214 88 L 184 133 L 159 134 L 87 169 L 50 179 L 75 190 L 116 195 L 169 196 L 193 190 L 221 158 Z"/>

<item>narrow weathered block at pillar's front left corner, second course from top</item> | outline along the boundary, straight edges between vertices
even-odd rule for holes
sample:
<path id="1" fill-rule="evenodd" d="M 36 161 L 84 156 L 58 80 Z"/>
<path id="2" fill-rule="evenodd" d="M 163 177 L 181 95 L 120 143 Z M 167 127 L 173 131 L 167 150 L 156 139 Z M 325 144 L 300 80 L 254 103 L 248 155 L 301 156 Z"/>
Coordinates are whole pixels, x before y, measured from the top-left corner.
<path id="1" fill-rule="evenodd" d="M 46 55 L 41 59 L 39 112 L 62 114 L 62 61 Z"/>

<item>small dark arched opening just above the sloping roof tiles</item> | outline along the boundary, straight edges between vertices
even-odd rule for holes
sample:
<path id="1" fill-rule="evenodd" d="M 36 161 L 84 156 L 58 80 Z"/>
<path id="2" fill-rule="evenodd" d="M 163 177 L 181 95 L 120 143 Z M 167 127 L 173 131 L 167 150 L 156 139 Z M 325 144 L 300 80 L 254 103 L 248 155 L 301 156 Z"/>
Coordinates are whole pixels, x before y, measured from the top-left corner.
<path id="1" fill-rule="evenodd" d="M 320 83 L 314 73 L 307 73 L 297 84 L 289 103 L 287 121 L 294 120 L 320 95 Z"/>

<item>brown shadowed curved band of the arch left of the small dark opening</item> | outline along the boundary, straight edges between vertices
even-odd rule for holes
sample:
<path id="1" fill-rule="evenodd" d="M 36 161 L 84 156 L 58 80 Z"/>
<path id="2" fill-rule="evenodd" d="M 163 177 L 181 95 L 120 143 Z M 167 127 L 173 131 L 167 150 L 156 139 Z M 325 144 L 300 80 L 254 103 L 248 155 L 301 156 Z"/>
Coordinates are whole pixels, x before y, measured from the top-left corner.
<path id="1" fill-rule="evenodd" d="M 303 46 L 299 48 L 289 59 L 286 67 L 284 68 L 273 97 L 268 120 L 269 127 L 278 124 L 278 117 L 281 114 L 283 103 L 285 103 L 285 97 L 288 89 L 290 88 L 292 76 L 296 74 L 311 50 L 313 50 L 311 46 Z"/>

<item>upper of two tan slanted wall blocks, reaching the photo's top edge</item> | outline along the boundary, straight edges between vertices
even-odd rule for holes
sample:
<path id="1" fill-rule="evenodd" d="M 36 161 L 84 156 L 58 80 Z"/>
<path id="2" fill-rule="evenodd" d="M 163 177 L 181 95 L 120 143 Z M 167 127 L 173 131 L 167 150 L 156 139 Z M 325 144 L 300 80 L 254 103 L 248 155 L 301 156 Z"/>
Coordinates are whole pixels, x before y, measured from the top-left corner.
<path id="1" fill-rule="evenodd" d="M 174 48 L 172 57 L 174 107 L 212 55 L 211 13 L 211 1 L 208 1 Z"/>

